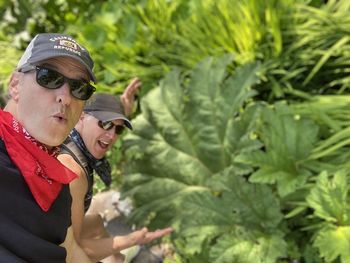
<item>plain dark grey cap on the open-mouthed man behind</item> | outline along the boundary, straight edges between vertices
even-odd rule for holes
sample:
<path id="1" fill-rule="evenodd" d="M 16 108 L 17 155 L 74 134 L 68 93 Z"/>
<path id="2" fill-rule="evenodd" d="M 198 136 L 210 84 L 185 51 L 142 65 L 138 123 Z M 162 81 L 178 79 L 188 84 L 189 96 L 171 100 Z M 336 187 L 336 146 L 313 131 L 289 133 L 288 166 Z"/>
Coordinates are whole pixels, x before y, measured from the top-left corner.
<path id="1" fill-rule="evenodd" d="M 105 122 L 113 120 L 124 120 L 124 124 L 132 130 L 130 120 L 125 116 L 123 105 L 119 97 L 107 93 L 95 93 L 86 103 L 84 112 Z"/>

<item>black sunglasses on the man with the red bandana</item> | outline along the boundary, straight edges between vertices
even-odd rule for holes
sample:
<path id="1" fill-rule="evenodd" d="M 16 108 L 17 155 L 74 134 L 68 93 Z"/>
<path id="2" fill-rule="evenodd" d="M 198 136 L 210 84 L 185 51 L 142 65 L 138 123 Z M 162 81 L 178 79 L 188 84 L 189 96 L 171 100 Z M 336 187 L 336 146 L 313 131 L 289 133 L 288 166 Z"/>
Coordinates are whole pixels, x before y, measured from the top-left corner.
<path id="1" fill-rule="evenodd" d="M 72 96 L 79 100 L 88 100 L 96 91 L 96 88 L 87 81 L 70 79 L 56 70 L 42 66 L 29 66 L 20 69 L 19 72 L 26 73 L 32 70 L 36 70 L 36 82 L 40 86 L 47 89 L 58 89 L 64 83 L 68 83 Z"/>

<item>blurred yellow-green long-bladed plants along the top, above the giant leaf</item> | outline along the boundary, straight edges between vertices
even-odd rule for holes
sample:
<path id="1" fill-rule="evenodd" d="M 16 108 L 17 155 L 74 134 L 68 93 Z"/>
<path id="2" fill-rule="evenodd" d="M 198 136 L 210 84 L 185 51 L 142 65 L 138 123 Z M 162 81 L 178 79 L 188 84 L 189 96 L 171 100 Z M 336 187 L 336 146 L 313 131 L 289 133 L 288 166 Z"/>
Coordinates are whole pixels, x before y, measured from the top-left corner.
<path id="1" fill-rule="evenodd" d="M 135 76 L 147 93 L 174 66 L 191 69 L 206 56 L 230 53 L 232 68 L 268 62 L 263 100 L 341 94 L 349 86 L 349 6 L 310 2 L 107 1 L 91 23 L 81 18 L 69 31 L 98 54 L 99 87 L 111 93 Z"/>

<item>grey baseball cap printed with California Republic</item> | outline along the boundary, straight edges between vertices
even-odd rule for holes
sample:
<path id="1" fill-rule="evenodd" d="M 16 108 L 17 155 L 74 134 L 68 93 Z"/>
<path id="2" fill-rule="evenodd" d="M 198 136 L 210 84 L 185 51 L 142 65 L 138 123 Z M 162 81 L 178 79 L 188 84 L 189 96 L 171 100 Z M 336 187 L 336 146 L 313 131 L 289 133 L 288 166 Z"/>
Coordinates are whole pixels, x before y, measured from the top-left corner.
<path id="1" fill-rule="evenodd" d="M 91 80 L 96 83 L 96 78 L 92 71 L 94 62 L 89 52 L 73 37 L 58 33 L 37 34 L 24 51 L 17 64 L 17 69 L 54 57 L 71 57 L 76 59 L 85 66 Z"/>

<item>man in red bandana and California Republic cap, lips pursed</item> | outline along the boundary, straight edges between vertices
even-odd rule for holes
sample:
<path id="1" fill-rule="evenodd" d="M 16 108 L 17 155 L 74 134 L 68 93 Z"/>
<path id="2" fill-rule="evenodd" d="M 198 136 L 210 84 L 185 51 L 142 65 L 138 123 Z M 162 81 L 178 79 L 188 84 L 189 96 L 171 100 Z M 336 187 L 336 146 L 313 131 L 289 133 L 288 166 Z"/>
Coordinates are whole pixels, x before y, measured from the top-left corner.
<path id="1" fill-rule="evenodd" d="M 63 246 L 80 251 L 69 228 L 76 175 L 56 156 L 95 91 L 93 65 L 72 37 L 39 34 L 11 75 L 0 110 L 0 262 L 74 262 Z"/>

